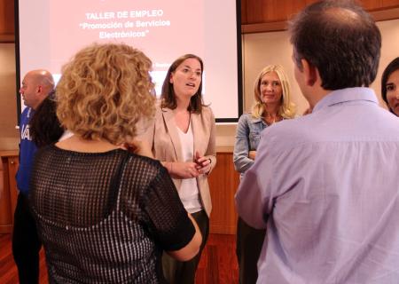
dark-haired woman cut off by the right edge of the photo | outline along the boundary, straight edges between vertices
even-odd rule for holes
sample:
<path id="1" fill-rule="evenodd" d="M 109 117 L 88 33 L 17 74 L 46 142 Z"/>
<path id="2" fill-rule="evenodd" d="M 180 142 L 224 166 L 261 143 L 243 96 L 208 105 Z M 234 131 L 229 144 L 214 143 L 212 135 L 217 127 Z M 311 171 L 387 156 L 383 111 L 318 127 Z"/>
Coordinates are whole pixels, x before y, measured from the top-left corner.
<path id="1" fill-rule="evenodd" d="M 392 60 L 382 73 L 381 94 L 391 113 L 399 116 L 399 57 Z"/>

